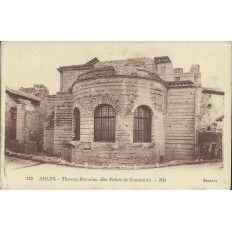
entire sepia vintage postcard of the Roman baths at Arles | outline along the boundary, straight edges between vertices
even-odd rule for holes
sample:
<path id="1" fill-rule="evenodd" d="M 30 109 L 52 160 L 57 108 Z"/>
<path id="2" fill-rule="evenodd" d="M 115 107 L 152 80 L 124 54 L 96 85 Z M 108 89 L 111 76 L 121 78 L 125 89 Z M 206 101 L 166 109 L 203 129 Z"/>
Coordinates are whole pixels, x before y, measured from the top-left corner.
<path id="1" fill-rule="evenodd" d="M 2 189 L 230 189 L 230 42 L 2 42 Z"/>

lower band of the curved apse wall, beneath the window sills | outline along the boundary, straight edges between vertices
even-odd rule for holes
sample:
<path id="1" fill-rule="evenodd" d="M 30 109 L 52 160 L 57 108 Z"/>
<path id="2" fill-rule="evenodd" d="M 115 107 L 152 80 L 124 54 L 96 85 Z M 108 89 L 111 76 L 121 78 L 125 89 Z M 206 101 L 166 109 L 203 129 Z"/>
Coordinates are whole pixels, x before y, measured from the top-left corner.
<path id="1" fill-rule="evenodd" d="M 154 143 L 83 143 L 70 141 L 61 149 L 61 159 L 67 162 L 88 165 L 155 165 L 175 160 L 175 150 L 163 154 Z"/>

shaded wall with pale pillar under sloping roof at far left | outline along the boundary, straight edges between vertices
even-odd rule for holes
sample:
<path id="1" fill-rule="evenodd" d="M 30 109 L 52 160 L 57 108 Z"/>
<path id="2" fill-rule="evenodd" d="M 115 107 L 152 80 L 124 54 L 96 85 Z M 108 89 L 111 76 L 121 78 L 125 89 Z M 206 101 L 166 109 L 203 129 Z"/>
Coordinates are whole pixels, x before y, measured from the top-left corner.
<path id="1" fill-rule="evenodd" d="M 39 102 L 25 100 L 15 94 L 6 92 L 5 109 L 5 145 L 9 149 L 17 147 L 17 152 L 25 152 L 25 144 L 36 142 L 37 148 L 43 147 L 43 122 L 39 113 Z M 14 118 L 12 114 L 14 109 Z M 28 148 L 28 147 L 27 147 Z M 27 151 L 32 151 L 27 149 Z M 33 150 L 34 151 L 34 150 Z"/>

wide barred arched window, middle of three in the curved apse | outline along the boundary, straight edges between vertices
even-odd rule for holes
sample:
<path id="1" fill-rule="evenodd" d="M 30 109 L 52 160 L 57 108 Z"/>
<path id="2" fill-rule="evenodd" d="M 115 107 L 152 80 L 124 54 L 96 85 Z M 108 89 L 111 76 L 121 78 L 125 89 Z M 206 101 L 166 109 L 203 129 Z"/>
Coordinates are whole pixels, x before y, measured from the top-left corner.
<path id="1" fill-rule="evenodd" d="M 110 105 L 100 105 L 95 110 L 94 141 L 115 141 L 115 112 Z"/>

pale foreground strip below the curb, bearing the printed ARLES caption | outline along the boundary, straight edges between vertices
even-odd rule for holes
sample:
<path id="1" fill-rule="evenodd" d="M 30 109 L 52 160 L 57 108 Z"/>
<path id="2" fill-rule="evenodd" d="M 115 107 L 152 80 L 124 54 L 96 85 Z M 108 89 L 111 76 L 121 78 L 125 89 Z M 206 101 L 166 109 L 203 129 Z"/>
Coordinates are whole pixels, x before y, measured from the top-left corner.
<path id="1" fill-rule="evenodd" d="M 199 189 L 220 188 L 223 165 L 218 162 L 154 169 L 109 170 L 67 167 L 6 157 L 5 174 L 6 188 L 12 189 Z M 204 183 L 203 179 L 213 182 Z"/>

